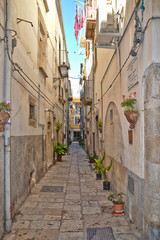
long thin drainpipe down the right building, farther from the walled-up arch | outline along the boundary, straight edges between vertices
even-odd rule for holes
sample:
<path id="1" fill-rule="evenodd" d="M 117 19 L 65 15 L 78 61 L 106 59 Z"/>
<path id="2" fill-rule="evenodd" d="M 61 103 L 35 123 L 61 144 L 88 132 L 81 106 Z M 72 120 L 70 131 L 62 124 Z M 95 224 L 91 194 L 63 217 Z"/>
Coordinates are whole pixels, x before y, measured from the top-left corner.
<path id="1" fill-rule="evenodd" d="M 92 134 L 93 134 L 93 153 L 95 153 L 95 124 L 94 124 L 94 40 L 92 40 Z"/>

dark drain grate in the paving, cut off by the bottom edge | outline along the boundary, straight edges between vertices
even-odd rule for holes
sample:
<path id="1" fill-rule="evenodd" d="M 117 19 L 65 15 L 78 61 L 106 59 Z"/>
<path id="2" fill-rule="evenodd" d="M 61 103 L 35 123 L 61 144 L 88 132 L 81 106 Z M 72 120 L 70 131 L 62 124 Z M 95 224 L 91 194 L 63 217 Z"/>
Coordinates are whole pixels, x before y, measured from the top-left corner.
<path id="1" fill-rule="evenodd" d="M 111 227 L 87 228 L 87 240 L 115 240 Z"/>

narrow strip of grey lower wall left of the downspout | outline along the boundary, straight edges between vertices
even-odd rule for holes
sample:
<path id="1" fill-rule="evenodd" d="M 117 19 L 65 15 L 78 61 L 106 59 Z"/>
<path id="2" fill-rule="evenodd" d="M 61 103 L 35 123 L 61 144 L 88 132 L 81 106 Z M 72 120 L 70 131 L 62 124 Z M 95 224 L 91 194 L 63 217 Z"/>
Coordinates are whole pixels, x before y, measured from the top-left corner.
<path id="1" fill-rule="evenodd" d="M 4 231 L 4 142 L 0 136 L 0 239 Z"/>

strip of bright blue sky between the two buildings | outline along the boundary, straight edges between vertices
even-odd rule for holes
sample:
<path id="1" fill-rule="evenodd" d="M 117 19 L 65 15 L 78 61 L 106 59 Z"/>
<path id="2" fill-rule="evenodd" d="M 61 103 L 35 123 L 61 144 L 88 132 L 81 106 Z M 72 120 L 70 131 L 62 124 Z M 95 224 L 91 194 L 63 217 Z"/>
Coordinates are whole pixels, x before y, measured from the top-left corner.
<path id="1" fill-rule="evenodd" d="M 83 2 L 83 0 L 81 2 Z M 71 80 L 73 97 L 79 97 L 79 79 L 73 78 L 79 78 L 80 63 L 83 63 L 84 59 L 84 55 L 78 54 L 79 51 L 84 53 L 84 48 L 80 48 L 79 42 L 77 45 L 77 41 L 74 35 L 76 4 L 77 2 L 75 2 L 75 0 L 61 0 L 67 50 L 69 52 L 68 57 L 71 66 L 71 70 L 69 71 L 69 80 Z M 80 3 L 80 6 L 81 8 L 83 8 L 83 4 Z M 81 35 L 83 35 L 84 29 L 82 29 L 81 31 Z"/>

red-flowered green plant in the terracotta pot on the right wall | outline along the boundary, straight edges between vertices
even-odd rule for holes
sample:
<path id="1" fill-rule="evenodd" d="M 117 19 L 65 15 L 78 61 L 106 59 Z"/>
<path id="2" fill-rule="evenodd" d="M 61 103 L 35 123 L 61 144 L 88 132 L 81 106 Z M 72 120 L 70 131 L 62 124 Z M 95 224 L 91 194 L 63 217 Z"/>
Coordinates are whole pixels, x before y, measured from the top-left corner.
<path id="1" fill-rule="evenodd" d="M 134 97 L 133 97 L 134 96 Z M 121 102 L 121 106 L 124 107 L 126 112 L 137 112 L 137 109 L 135 107 L 136 104 L 136 92 L 133 92 L 129 95 L 129 98 L 125 98 L 126 96 L 123 95 L 123 102 Z"/>

